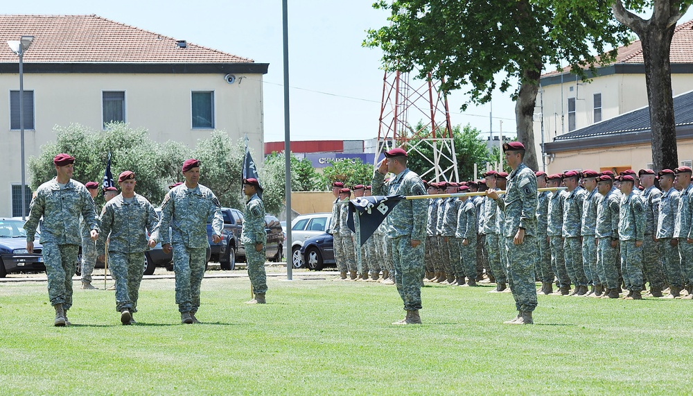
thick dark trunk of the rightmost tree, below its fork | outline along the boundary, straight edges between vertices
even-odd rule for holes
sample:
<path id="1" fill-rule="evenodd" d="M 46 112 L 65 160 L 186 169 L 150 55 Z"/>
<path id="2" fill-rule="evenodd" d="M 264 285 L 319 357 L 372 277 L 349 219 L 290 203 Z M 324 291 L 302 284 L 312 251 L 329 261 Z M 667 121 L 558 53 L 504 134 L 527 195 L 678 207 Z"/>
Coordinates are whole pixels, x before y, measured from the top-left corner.
<path id="1" fill-rule="evenodd" d="M 669 51 L 676 26 L 651 28 L 642 32 L 642 55 L 652 130 L 652 166 L 655 171 L 676 169 L 676 123 L 672 96 L 672 67 Z"/>

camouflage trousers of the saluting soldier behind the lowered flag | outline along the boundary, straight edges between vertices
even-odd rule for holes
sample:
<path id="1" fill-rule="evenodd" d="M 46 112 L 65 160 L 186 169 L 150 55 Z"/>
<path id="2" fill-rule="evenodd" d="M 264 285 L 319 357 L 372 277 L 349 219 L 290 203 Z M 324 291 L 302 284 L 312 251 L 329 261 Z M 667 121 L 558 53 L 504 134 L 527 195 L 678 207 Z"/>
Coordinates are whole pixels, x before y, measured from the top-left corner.
<path id="1" fill-rule="evenodd" d="M 394 283 L 397 286 L 404 309 L 421 309 L 421 271 L 423 271 L 423 250 L 426 242 L 412 248 L 412 239 L 398 236 L 390 239 L 394 261 Z"/>

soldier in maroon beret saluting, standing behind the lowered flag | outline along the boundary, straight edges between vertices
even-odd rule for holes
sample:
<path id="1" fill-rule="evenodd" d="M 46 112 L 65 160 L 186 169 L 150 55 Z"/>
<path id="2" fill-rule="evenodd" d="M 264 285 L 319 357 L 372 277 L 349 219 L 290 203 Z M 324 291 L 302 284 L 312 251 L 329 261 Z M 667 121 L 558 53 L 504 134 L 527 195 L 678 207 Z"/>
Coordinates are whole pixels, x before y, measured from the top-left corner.
<path id="1" fill-rule="evenodd" d="M 395 174 L 383 184 L 385 173 Z M 426 194 L 423 182 L 407 168 L 407 152 L 393 148 L 385 153 L 371 182 L 374 193 L 383 196 L 421 196 Z M 387 236 L 392 247 L 395 284 L 407 315 L 398 325 L 421 323 L 421 271 L 426 239 L 426 200 L 401 200 L 387 216 Z"/>

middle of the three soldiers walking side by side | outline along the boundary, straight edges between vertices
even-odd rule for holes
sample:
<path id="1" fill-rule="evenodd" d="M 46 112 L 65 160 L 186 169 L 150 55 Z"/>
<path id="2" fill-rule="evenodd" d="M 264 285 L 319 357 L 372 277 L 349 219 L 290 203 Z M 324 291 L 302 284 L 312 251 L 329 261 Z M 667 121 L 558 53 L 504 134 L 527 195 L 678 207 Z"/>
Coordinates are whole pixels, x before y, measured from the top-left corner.
<path id="1" fill-rule="evenodd" d="M 123 325 L 134 325 L 133 314 L 137 312 L 139 285 L 144 273 L 144 252 L 147 247 L 157 245 L 155 239 L 147 240 L 148 231 L 155 234 L 159 216 L 154 207 L 143 196 L 134 192 L 135 175 L 124 171 L 118 176 L 123 191 L 103 207 L 100 218 L 102 241 L 98 252 L 105 254 L 105 239 L 108 243 L 108 264 L 116 281 L 116 311 L 121 313 Z"/>

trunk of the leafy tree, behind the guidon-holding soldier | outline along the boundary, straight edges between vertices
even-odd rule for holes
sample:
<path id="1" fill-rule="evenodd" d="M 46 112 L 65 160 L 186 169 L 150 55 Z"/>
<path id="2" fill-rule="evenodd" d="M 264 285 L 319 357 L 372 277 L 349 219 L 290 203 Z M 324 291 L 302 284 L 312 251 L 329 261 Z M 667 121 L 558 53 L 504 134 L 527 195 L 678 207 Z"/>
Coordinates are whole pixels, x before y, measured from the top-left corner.
<path id="1" fill-rule="evenodd" d="M 536 105 L 536 94 L 539 90 L 539 78 L 541 76 L 541 62 L 536 65 L 536 69 L 523 71 L 523 78 L 520 82 L 520 92 L 518 92 L 515 103 L 515 119 L 518 130 L 518 141 L 525 145 L 525 165 L 538 171 L 536 150 L 534 149 L 534 107 Z M 500 153 L 502 155 L 502 153 Z M 542 159 L 543 160 L 543 159 Z"/>

